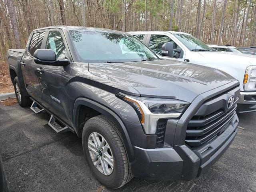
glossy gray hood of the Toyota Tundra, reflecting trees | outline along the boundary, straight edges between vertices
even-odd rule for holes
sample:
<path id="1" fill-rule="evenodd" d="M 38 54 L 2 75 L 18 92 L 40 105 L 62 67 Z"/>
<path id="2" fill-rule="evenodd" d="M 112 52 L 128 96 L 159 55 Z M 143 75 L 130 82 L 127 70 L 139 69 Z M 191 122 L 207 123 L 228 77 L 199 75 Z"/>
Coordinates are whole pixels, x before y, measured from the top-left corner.
<path id="1" fill-rule="evenodd" d="M 176 98 L 186 102 L 235 80 L 220 70 L 172 60 L 94 63 L 89 64 L 89 72 L 97 81 L 108 82 L 108 86 L 132 87 L 141 96 Z"/>

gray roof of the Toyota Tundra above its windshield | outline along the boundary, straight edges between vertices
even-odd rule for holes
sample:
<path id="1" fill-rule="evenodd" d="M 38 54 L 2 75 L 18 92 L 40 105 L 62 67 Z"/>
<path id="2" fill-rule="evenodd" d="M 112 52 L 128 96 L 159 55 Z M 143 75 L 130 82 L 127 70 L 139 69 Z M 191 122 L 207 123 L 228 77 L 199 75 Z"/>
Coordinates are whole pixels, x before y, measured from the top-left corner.
<path id="1" fill-rule="evenodd" d="M 122 33 L 122 34 L 124 34 L 124 32 L 111 30 L 111 29 L 82 27 L 82 26 L 66 26 L 66 25 L 49 26 L 49 27 L 44 27 L 44 28 L 38 28 L 38 29 L 33 30 L 32 32 L 39 31 L 39 30 L 47 30 L 47 29 L 52 29 L 52 28 L 60 28 L 60 29 L 65 29 L 65 30 L 86 30 L 86 31 L 96 31 L 96 32 L 112 32 L 112 33 Z"/>

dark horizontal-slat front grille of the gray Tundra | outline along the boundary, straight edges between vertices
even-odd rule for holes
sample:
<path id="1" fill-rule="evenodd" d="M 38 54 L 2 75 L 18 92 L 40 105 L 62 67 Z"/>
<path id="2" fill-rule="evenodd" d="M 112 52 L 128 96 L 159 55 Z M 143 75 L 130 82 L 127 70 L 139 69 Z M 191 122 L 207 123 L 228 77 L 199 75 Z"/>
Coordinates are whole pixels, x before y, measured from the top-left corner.
<path id="1" fill-rule="evenodd" d="M 236 115 L 237 102 L 238 99 L 227 112 L 220 109 L 206 116 L 192 117 L 186 130 L 186 144 L 192 148 L 198 148 L 222 134 Z"/>

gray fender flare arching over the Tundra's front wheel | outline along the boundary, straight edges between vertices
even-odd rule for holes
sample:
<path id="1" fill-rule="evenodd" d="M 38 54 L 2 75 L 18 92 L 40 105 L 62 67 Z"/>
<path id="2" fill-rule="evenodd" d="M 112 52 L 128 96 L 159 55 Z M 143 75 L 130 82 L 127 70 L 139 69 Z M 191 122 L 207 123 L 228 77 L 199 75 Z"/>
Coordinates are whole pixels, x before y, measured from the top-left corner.
<path id="1" fill-rule="evenodd" d="M 77 98 L 74 103 L 73 115 L 72 115 L 72 121 L 73 121 L 75 131 L 77 132 L 77 129 L 78 129 L 78 122 L 76 120 L 76 116 L 77 116 L 77 112 L 78 112 L 77 109 L 79 108 L 80 105 L 90 107 L 90 108 L 100 112 L 101 114 L 106 116 L 108 119 L 110 119 L 116 125 L 116 127 L 118 128 L 118 130 L 122 136 L 122 139 L 124 141 L 124 145 L 126 148 L 126 152 L 127 152 L 129 161 L 130 161 L 130 163 L 133 162 L 135 160 L 134 151 L 133 151 L 132 142 L 130 140 L 130 137 L 126 130 L 126 127 L 125 127 L 124 123 L 122 122 L 121 118 L 114 111 L 110 110 L 106 106 L 103 106 L 103 105 L 101 105 L 93 100 L 90 100 L 88 98 Z"/>

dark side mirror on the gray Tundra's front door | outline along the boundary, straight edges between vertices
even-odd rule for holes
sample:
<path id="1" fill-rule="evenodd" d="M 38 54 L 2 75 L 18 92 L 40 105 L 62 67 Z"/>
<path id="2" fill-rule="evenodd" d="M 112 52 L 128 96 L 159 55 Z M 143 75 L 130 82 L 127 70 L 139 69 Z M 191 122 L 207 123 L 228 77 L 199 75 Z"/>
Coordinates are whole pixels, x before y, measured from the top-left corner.
<path id="1" fill-rule="evenodd" d="M 70 64 L 68 59 L 56 60 L 56 54 L 54 50 L 51 49 L 37 49 L 34 52 L 34 61 L 41 65 L 51 65 L 51 66 L 67 66 Z"/>

